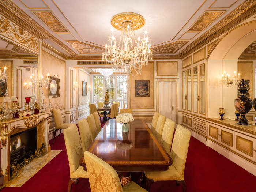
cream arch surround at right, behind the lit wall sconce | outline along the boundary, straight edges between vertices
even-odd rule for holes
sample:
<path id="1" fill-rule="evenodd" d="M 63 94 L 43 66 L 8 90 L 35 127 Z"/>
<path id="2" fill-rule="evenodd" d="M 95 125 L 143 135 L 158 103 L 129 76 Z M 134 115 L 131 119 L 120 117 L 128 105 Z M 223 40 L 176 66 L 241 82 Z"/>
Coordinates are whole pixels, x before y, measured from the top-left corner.
<path id="1" fill-rule="evenodd" d="M 232 77 L 237 71 L 241 53 L 256 40 L 256 21 L 243 23 L 220 38 L 208 57 L 208 117 L 218 117 L 219 108 L 225 108 L 226 117 L 234 117 L 234 99 L 237 86 L 222 86 L 224 71 Z"/>

